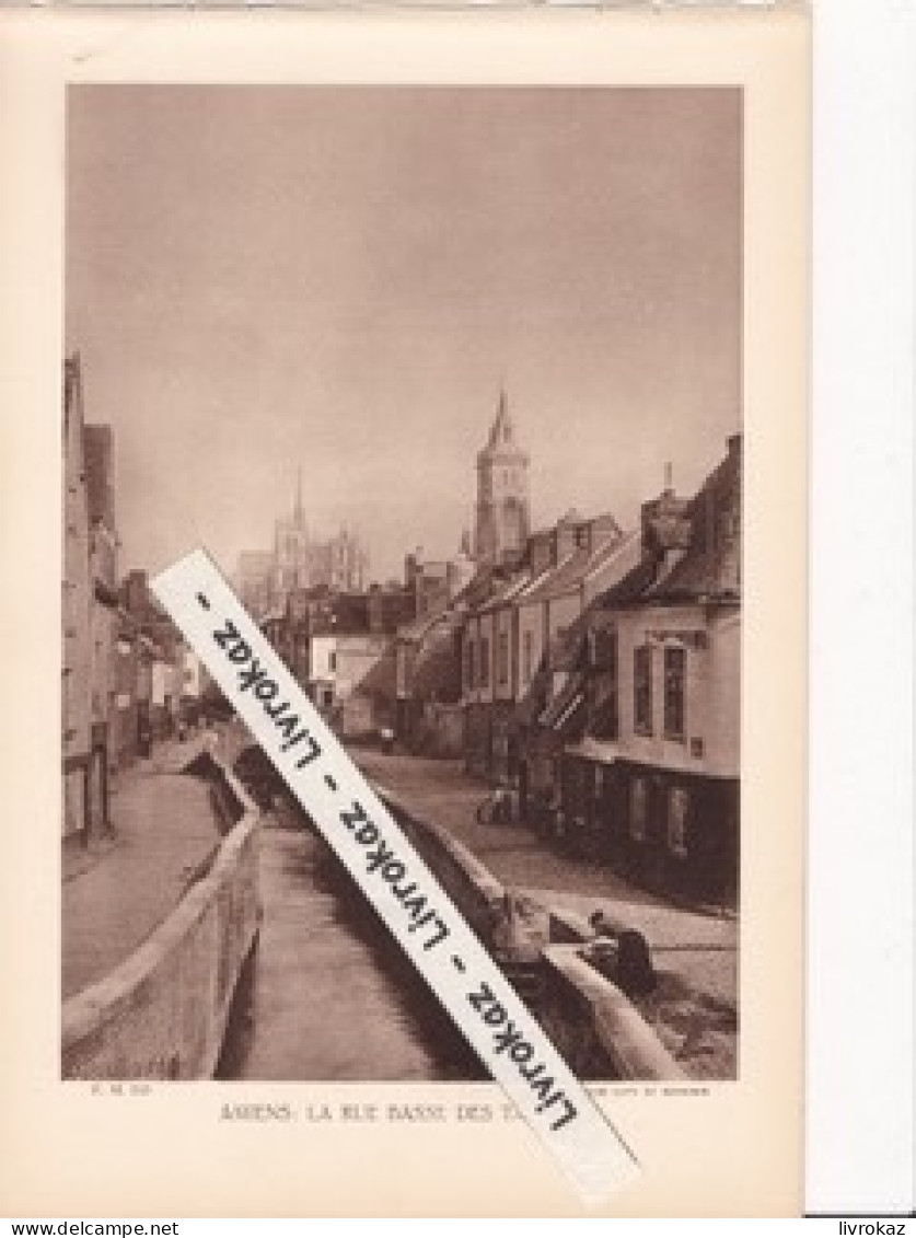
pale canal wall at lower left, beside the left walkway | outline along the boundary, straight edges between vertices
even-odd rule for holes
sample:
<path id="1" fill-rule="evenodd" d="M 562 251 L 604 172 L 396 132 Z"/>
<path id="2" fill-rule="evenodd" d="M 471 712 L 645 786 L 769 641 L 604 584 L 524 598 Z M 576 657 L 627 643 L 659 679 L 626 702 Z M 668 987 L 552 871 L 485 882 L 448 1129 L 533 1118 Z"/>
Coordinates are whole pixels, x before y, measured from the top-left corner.
<path id="1" fill-rule="evenodd" d="M 227 833 L 209 869 L 114 972 L 64 1003 L 63 1078 L 209 1078 L 260 922 L 259 813 L 214 763 Z"/>

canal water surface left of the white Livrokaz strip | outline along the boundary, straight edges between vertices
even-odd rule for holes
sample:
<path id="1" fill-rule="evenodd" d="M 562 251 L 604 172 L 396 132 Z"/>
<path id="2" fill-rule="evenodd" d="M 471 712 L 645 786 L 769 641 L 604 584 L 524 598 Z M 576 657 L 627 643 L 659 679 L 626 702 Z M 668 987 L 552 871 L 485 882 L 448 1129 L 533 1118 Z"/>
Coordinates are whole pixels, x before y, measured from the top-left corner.
<path id="1" fill-rule="evenodd" d="M 217 1077 L 484 1078 L 423 980 L 327 846 L 266 815 L 264 922 Z"/>

